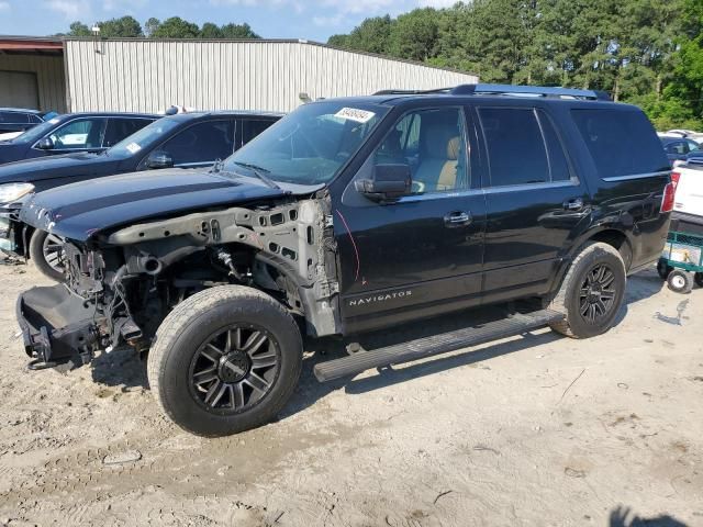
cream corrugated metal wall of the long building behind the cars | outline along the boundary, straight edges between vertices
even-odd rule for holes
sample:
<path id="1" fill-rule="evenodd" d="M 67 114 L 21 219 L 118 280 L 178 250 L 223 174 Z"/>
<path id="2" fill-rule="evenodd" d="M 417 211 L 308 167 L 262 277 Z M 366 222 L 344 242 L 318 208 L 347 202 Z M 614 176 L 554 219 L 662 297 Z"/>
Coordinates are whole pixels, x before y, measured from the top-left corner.
<path id="1" fill-rule="evenodd" d="M 289 41 L 67 41 L 72 111 L 290 111 L 313 99 L 383 88 L 476 82 L 471 75 Z"/>

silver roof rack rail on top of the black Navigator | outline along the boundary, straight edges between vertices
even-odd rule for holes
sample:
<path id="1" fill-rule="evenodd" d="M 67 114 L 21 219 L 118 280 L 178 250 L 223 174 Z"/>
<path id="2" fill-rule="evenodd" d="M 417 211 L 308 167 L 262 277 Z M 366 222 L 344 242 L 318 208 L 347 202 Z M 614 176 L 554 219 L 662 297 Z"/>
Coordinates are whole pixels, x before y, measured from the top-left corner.
<path id="1" fill-rule="evenodd" d="M 436 90 L 381 90 L 375 96 L 414 96 L 423 93 L 448 93 L 451 96 L 517 96 L 517 97 L 546 97 L 551 99 L 585 99 L 593 101 L 610 101 L 611 97 L 605 91 L 579 90 L 574 88 L 559 88 L 545 86 L 515 86 L 515 85 L 459 85 L 454 88 L 438 88 Z"/>

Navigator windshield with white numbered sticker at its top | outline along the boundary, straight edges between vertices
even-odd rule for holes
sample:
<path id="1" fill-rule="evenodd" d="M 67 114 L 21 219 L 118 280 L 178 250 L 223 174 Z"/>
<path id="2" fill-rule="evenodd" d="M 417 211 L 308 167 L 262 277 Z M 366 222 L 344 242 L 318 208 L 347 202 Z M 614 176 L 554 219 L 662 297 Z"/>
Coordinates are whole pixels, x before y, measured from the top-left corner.
<path id="1" fill-rule="evenodd" d="M 386 106 L 352 101 L 302 105 L 230 156 L 224 170 L 254 169 L 274 181 L 326 183 L 387 112 Z"/>

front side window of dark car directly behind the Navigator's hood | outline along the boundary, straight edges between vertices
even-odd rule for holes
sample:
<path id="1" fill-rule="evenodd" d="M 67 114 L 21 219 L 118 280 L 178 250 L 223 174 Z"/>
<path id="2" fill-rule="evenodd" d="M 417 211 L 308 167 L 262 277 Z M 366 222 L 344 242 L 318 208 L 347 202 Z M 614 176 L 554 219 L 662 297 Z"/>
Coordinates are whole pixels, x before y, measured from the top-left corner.
<path id="1" fill-rule="evenodd" d="M 158 149 L 170 154 L 176 166 L 224 159 L 234 152 L 234 121 L 193 124 L 168 139 Z"/>

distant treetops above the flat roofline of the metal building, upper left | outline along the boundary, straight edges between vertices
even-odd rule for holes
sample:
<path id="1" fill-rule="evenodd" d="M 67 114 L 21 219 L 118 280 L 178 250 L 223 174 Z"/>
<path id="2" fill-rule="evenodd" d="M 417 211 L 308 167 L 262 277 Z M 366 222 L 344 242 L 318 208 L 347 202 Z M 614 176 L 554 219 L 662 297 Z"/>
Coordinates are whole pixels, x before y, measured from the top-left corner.
<path id="1" fill-rule="evenodd" d="M 171 16 L 163 22 L 152 18 L 144 26 L 134 16 L 122 16 L 97 22 L 100 36 L 104 38 L 260 38 L 249 24 L 217 25 L 205 22 L 202 26 L 180 16 Z M 91 27 L 82 22 L 74 22 L 68 33 L 57 36 L 92 36 Z"/>

